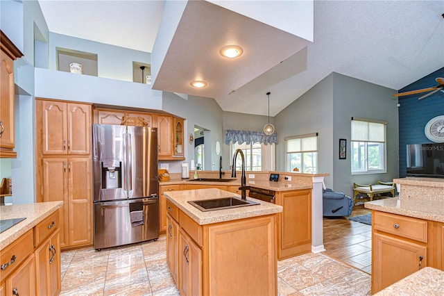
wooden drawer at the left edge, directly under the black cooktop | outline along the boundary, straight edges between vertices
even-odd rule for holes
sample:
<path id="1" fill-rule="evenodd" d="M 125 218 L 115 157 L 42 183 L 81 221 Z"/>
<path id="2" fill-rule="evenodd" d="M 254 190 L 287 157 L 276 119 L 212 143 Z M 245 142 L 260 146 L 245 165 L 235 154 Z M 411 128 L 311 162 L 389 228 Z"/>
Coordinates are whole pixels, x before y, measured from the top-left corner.
<path id="1" fill-rule="evenodd" d="M 0 282 L 4 281 L 8 275 L 22 263 L 29 254 L 34 251 L 34 232 L 30 229 L 15 242 L 8 245 L 0 254 Z"/>

